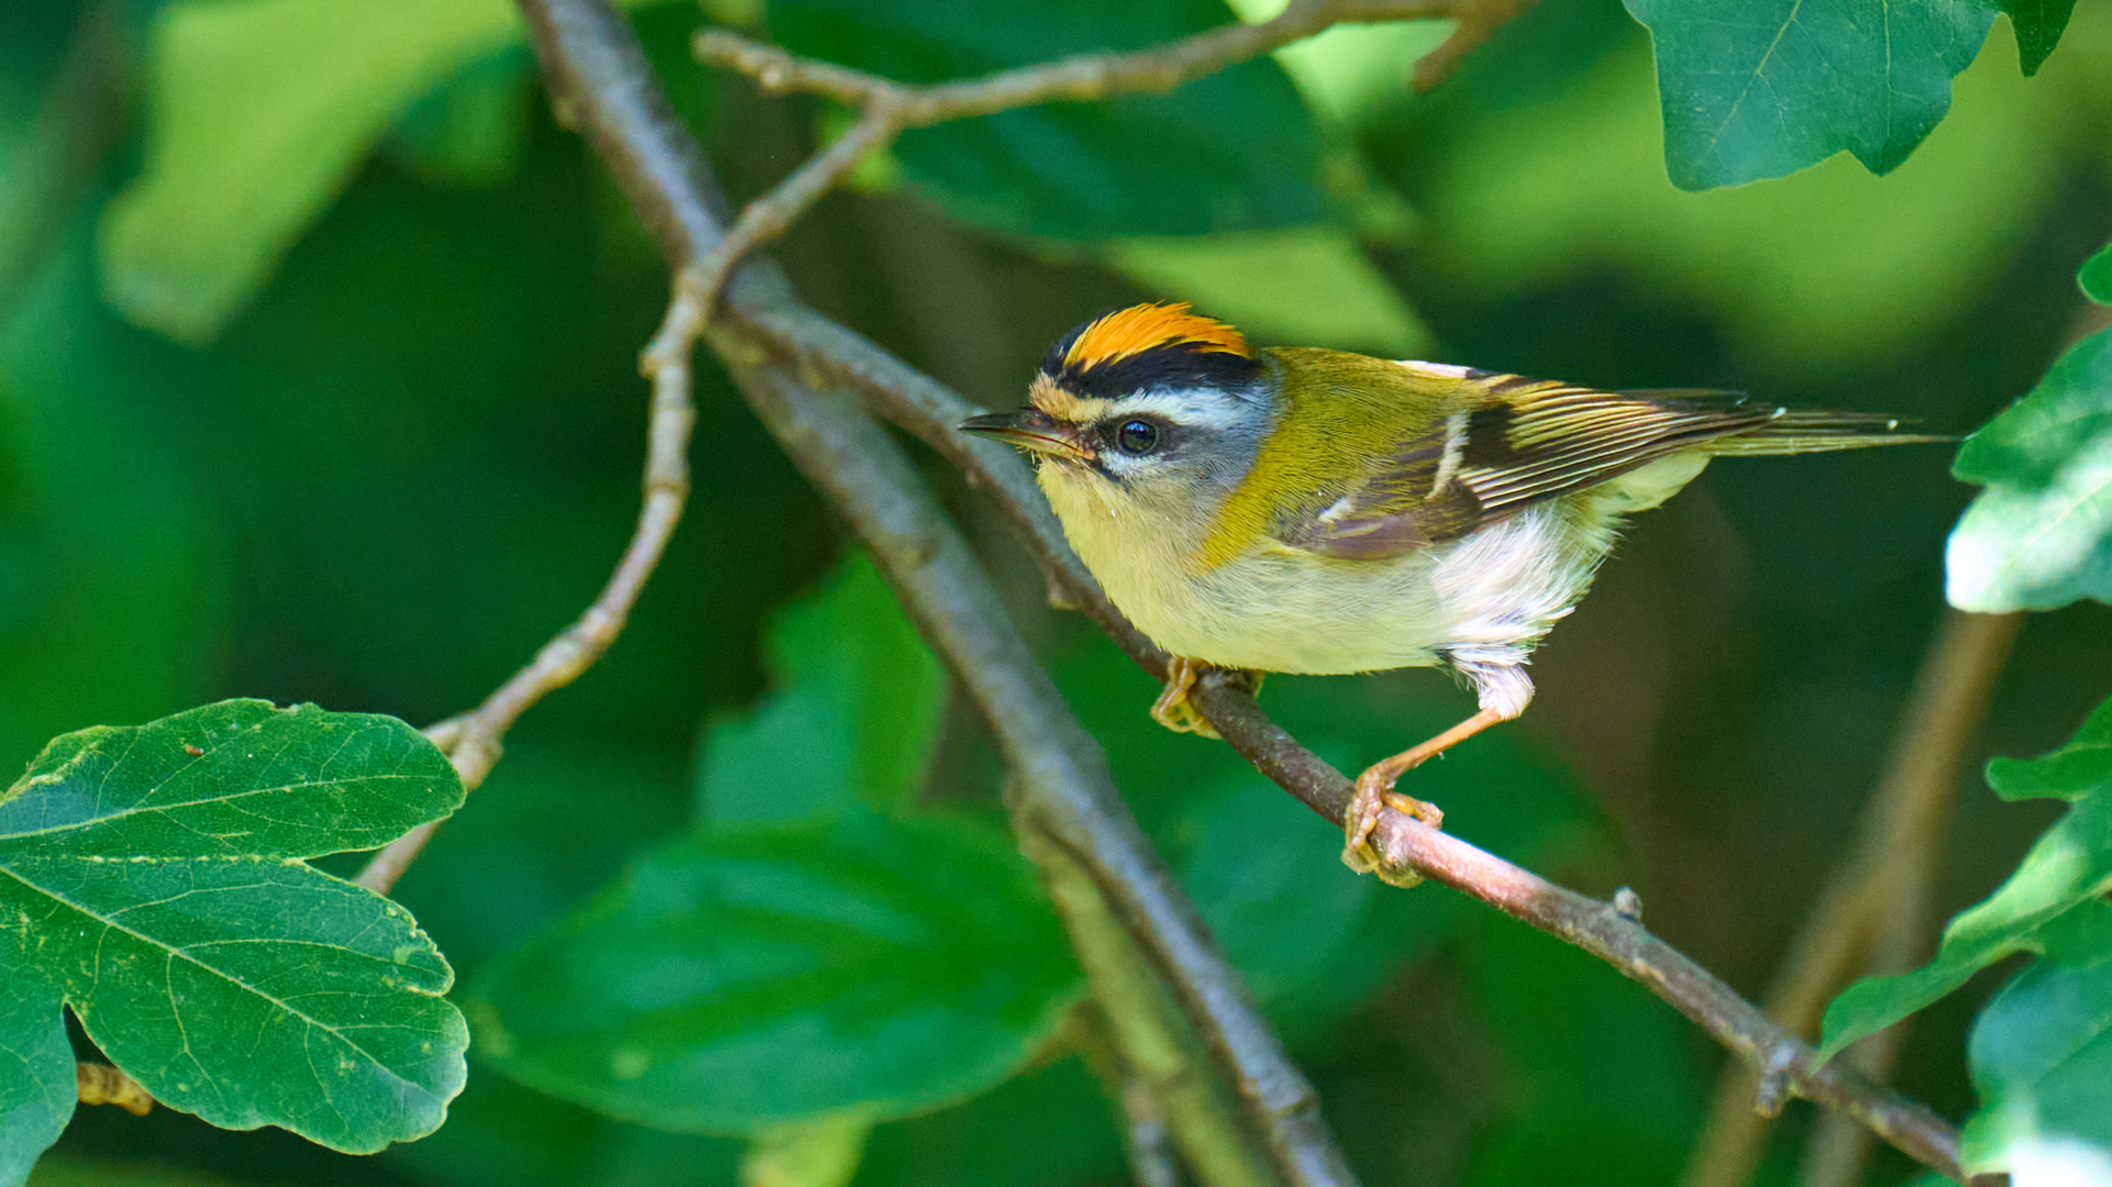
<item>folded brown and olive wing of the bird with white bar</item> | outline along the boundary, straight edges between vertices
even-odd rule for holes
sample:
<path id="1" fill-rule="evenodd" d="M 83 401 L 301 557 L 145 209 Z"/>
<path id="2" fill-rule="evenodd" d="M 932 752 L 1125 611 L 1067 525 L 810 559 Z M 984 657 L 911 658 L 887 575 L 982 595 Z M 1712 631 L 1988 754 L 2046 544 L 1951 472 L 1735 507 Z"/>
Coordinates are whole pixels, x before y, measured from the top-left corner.
<path id="1" fill-rule="evenodd" d="M 1326 505 L 1288 513 L 1276 539 L 1343 560 L 1385 560 L 1783 416 L 1734 393 L 1597 391 L 1493 372 L 1457 378 L 1436 418 L 1404 427 L 1394 452 Z"/>

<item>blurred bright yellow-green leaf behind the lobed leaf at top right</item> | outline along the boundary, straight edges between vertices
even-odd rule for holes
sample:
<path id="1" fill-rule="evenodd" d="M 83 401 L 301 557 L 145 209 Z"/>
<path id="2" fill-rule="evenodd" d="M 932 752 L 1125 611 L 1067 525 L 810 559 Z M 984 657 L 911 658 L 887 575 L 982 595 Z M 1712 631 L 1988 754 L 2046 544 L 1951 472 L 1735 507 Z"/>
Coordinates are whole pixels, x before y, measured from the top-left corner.
<path id="1" fill-rule="evenodd" d="M 1533 300 L 1618 275 L 1639 300 L 1700 304 L 1749 370 L 1863 376 L 1954 325 L 2066 186 L 2068 120 L 2104 68 L 2057 59 L 2025 80 L 2013 53 L 1992 40 L 1958 76 L 1943 135 L 1884 177 L 1835 156 L 1681 192 L 1660 165 L 1647 44 L 1624 46 L 1557 95 L 1459 127 L 1451 152 L 1417 163 L 1417 209 L 1447 287 Z"/>

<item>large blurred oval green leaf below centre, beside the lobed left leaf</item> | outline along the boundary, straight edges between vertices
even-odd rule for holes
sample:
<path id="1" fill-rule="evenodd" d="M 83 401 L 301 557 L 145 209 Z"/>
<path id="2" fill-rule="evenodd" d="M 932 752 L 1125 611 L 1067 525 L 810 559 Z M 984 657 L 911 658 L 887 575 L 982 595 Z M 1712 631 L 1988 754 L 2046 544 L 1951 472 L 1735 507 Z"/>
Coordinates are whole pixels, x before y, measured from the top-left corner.
<path id="1" fill-rule="evenodd" d="M 640 862 L 477 984 L 477 1045 L 608 1115 L 758 1134 L 900 1117 L 1007 1077 L 1077 969 L 991 830 L 874 813 L 716 828 Z"/>

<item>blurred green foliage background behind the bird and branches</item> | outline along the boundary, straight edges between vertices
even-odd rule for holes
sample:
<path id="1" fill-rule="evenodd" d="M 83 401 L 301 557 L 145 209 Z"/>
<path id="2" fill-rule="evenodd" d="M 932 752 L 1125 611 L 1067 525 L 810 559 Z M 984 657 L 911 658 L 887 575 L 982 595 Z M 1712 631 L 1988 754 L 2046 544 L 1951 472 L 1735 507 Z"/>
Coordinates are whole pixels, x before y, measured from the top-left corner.
<path id="1" fill-rule="evenodd" d="M 234 161 L 220 205 L 173 175 L 184 125 L 167 97 L 186 82 L 169 30 L 327 74 L 302 57 L 327 8 L 0 6 L 0 754 L 234 695 L 437 720 L 570 621 L 629 532 L 636 351 L 665 272 L 553 123 L 503 4 L 433 4 L 431 27 L 397 25 L 401 44 L 359 42 L 372 84 L 296 112 L 321 129 L 300 144 L 321 154 L 336 135 L 342 167 L 243 165 L 230 135 L 205 152 Z M 906 80 L 1229 19 L 1217 0 L 710 15 Z M 251 23 L 213 32 L 220 17 Z M 735 199 L 841 127 L 822 103 L 697 70 L 695 6 L 634 17 Z M 353 25 L 332 36 L 357 42 Z M 1542 0 L 1413 97 L 1413 55 L 1440 36 L 1337 32 L 1157 106 L 910 135 L 773 253 L 817 308 L 991 408 L 1020 399 L 1056 334 L 1155 296 L 1265 344 L 1742 389 L 1945 433 L 2097 325 L 2074 270 L 2112 237 L 2104 4 L 2030 80 L 1998 27 L 1954 114 L 1888 177 L 1837 156 L 1700 194 L 1666 180 L 1649 38 L 1618 2 Z M 213 78 L 190 87 L 218 93 Z M 222 99 L 207 127 L 294 118 Z M 771 625 L 847 543 L 710 363 L 697 403 L 695 498 L 629 629 L 515 729 L 397 891 L 465 986 L 699 815 L 756 815 L 712 800 L 737 784 L 729 729 L 851 746 L 819 741 L 845 729 L 826 697 L 743 716 L 800 680 L 796 642 L 773 653 Z M 1970 496 L 1947 465 L 1937 448 L 1715 465 L 1637 520 L 1535 657 L 1533 712 L 1419 773 L 1417 794 L 1453 832 L 1578 889 L 1635 887 L 1658 934 L 1759 995 L 1848 847 L 1943 608 L 1943 536 Z M 1706 1037 L 1451 891 L 1354 879 L 1331 826 L 1223 748 L 1151 727 L 1149 680 L 1041 606 L 1003 528 L 940 463 L 927 473 L 1369 1183 L 1677 1179 L 1723 1060 Z M 2053 815 L 1998 803 L 1979 758 L 2068 739 L 2106 691 L 2108 644 L 2101 606 L 2025 625 L 1960 773 L 1937 917 L 1985 896 Z M 993 822 L 997 762 L 929 680 L 929 720 L 900 727 L 929 731 L 906 796 Z M 1356 767 L 1468 697 L 1409 672 L 1274 678 L 1263 705 Z M 1964 1026 L 1992 986 L 1920 1018 L 1897 1071 L 1951 1117 L 1973 1109 Z M 1791 1107 L 1766 1181 L 1791 1181 L 1808 1128 Z M 38 1183 L 680 1187 L 733 1183 L 739 1151 L 545 1096 L 473 1052 L 450 1124 L 376 1157 L 84 1109 Z M 135 1164 L 158 1170 L 112 1170 Z M 879 1126 L 855 1183 L 1126 1174 L 1109 1100 L 1050 1048 L 988 1094 Z M 1886 1153 L 1869 1174 L 1897 1183 L 1909 1166 Z"/>

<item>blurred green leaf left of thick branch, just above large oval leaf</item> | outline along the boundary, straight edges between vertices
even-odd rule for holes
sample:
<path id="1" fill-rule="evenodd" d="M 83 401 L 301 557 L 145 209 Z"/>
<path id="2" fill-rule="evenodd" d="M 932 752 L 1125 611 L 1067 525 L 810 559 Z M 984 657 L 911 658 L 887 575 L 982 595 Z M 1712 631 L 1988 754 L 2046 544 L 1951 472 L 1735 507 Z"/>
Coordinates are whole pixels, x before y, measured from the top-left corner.
<path id="1" fill-rule="evenodd" d="M 917 790 L 946 708 L 946 670 L 862 553 L 771 632 L 777 684 L 712 724 L 697 771 L 718 822 L 798 819 Z"/>

